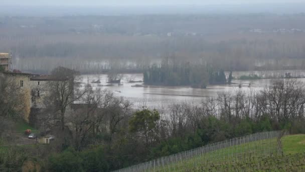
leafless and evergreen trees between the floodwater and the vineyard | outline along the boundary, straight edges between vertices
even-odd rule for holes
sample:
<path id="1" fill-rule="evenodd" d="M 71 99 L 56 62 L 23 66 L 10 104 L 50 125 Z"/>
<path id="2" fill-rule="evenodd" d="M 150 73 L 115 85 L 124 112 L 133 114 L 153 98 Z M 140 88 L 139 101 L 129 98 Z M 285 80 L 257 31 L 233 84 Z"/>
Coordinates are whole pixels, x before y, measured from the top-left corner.
<path id="1" fill-rule="evenodd" d="M 34 163 L 49 171 L 109 171 L 259 131 L 305 133 L 305 88 L 295 79 L 278 80 L 262 91 L 220 94 L 199 104 L 136 109 L 107 90 L 89 84 L 77 89 L 73 70 L 60 67 L 51 74 L 60 81 L 48 83 L 50 96 L 40 116 L 44 122 L 36 127 L 51 129 L 56 139 L 50 145 L 33 146 L 11 144 L 16 140 L 10 131 L 22 118 L 16 111 L 22 110 L 22 102 L 16 105 L 14 99 L 22 92 L 7 89 L 16 82 L 1 75 L 0 123 L 5 126 L 0 130 L 1 168 L 21 169 Z M 6 96 L 11 94 L 16 96 Z"/>

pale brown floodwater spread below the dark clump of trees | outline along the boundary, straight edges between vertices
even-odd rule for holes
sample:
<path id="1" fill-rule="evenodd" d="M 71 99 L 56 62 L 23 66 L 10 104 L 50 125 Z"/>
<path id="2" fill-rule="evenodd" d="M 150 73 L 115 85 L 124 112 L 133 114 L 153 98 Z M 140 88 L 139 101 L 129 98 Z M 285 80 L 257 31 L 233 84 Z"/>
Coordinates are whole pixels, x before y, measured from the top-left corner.
<path id="1" fill-rule="evenodd" d="M 237 73 L 240 75 L 240 73 Z M 233 75 L 234 76 L 234 75 Z M 100 79 L 101 83 L 91 83 L 93 88 L 108 89 L 113 91 L 115 96 L 124 97 L 135 106 L 147 106 L 151 108 L 167 107 L 172 103 L 198 103 L 208 97 L 217 97 L 219 93 L 234 92 L 237 90 L 249 91 L 263 89 L 267 85 L 270 85 L 274 79 L 258 79 L 258 80 L 233 80 L 232 84 L 224 85 L 209 85 L 207 89 L 194 89 L 191 87 L 165 87 L 165 86 L 153 86 L 144 85 L 143 87 L 132 87 L 135 84 L 142 84 L 143 82 L 129 83 L 129 78 L 133 80 L 142 80 L 141 73 L 138 74 L 124 74 L 121 79 L 121 84 L 113 84 L 109 86 L 107 83 L 107 75 L 82 75 L 82 82 L 91 83 Z M 304 81 L 305 78 L 299 78 L 298 80 Z M 242 88 L 239 88 L 239 84 Z M 85 84 L 82 84 L 84 86 Z M 106 86 L 108 85 L 108 86 Z M 249 87 L 250 86 L 250 87 Z"/>

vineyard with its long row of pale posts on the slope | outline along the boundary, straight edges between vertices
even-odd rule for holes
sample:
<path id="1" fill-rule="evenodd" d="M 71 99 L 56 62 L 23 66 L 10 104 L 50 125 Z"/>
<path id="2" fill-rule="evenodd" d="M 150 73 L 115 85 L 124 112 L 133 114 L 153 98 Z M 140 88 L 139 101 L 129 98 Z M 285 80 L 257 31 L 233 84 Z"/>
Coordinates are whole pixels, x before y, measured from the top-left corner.
<path id="1" fill-rule="evenodd" d="M 305 144 L 301 147 L 296 146 L 297 152 L 284 153 L 282 141 L 279 139 L 280 135 L 280 132 L 252 134 L 117 171 L 269 171 L 271 169 L 272 171 L 304 171 Z M 290 144 L 290 140 L 297 141 L 295 139 L 305 141 L 305 136 L 284 137 L 287 144 Z M 293 146 L 290 146 L 291 148 L 289 146 L 285 146 L 283 149 L 293 148 Z"/>

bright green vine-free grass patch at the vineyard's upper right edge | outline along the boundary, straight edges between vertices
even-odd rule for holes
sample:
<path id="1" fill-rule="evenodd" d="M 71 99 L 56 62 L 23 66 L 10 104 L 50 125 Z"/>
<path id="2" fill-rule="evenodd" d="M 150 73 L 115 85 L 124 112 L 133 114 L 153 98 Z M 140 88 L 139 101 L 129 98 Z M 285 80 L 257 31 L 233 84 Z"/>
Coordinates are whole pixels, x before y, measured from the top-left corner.
<path id="1" fill-rule="evenodd" d="M 305 134 L 289 135 L 282 138 L 282 150 L 285 154 L 305 151 Z"/>

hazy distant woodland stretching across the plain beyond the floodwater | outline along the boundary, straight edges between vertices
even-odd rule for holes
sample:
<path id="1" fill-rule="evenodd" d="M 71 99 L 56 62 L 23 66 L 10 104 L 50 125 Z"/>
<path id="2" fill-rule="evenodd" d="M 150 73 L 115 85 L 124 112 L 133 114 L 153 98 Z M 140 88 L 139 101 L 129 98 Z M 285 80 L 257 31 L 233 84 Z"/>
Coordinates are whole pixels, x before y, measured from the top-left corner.
<path id="1" fill-rule="evenodd" d="M 304 69 L 305 16 L 0 16 L 1 52 L 14 68 L 48 73 L 58 65 L 87 73 L 142 72 L 167 54 L 225 71 Z"/>

